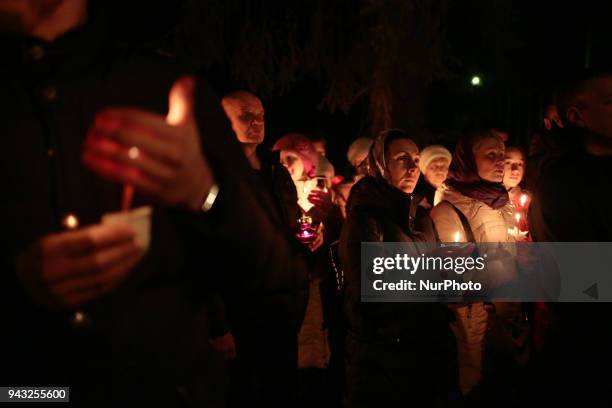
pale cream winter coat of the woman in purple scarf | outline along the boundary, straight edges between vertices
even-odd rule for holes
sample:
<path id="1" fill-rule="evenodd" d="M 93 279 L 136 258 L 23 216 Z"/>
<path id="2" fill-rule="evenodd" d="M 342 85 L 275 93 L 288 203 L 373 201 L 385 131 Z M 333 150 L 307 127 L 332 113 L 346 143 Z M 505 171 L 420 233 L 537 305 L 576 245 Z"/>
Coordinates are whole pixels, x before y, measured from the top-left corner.
<path id="1" fill-rule="evenodd" d="M 440 202 L 430 214 L 440 241 L 455 241 L 457 232 L 460 234 L 459 241 L 466 241 L 469 233 L 457 214 L 460 211 L 468 221 L 480 255 L 487 253 L 487 274 L 475 277 L 483 288 L 494 290 L 515 278 L 514 237 L 509 234 L 509 230 L 516 225 L 512 203 L 509 201 L 503 207 L 493 209 L 447 185 L 438 189 L 437 197 Z M 504 245 L 504 250 L 500 251 L 485 243 L 509 245 Z M 464 279 L 470 278 L 466 272 Z M 496 309 L 503 316 L 514 316 L 519 312 L 520 304 L 496 303 Z M 460 305 L 453 311 L 455 321 L 451 328 L 457 338 L 460 387 L 467 394 L 481 380 L 489 316 L 482 302 Z"/>

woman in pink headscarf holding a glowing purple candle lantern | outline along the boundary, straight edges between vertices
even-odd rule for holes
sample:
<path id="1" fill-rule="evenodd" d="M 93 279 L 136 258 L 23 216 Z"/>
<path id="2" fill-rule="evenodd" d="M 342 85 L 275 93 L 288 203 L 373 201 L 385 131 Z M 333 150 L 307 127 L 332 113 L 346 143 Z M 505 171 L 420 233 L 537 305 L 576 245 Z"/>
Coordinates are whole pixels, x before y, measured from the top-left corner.
<path id="1" fill-rule="evenodd" d="M 316 239 L 307 242 L 313 252 L 306 316 L 298 334 L 299 398 L 320 405 L 326 395 L 340 399 L 339 368 L 342 356 L 341 303 L 336 299 L 336 277 L 328 259 L 328 245 L 338 238 L 342 216 L 328 189 L 334 176 L 331 163 L 302 134 L 281 137 L 273 146 L 297 189 L 298 205 L 317 225 Z M 329 390 L 329 391 L 328 391 Z M 337 393 L 338 395 L 334 395 Z"/>

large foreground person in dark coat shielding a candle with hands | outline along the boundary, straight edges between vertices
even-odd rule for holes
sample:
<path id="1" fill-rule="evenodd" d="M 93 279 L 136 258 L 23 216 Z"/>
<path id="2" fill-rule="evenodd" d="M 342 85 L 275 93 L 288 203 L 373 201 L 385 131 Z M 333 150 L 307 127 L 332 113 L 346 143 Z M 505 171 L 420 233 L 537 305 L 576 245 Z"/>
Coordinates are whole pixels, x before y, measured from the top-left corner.
<path id="1" fill-rule="evenodd" d="M 0 6 L 0 384 L 70 386 L 74 406 L 221 405 L 207 282 L 264 290 L 292 243 L 218 100 L 174 61 L 118 49 L 100 3 Z M 146 252 L 97 225 L 122 184 L 153 207 Z"/>

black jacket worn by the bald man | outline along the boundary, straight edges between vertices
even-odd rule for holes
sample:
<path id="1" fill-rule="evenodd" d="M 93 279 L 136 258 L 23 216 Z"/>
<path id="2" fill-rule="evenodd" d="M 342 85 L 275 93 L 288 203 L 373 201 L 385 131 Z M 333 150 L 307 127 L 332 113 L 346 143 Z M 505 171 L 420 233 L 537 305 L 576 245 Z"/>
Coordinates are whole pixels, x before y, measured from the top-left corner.
<path id="1" fill-rule="evenodd" d="M 308 273 L 312 261 L 306 247 L 295 238 L 301 212 L 291 176 L 274 154 L 258 149 L 258 157 L 261 170 L 251 171 L 255 183 L 253 187 L 266 197 L 270 216 L 282 226 L 282 233 L 289 245 L 283 253 L 275 256 L 288 262 L 285 269 L 269 271 L 263 287 L 236 291 L 237 282 L 219 276 L 217 289 L 226 305 L 227 314 L 221 312 L 215 316 L 214 333 L 211 334 L 217 337 L 227 331 L 236 334 L 238 330 L 238 336 L 248 347 L 261 351 L 262 343 L 270 343 L 269 330 L 272 328 L 294 333 L 299 330 L 306 310 Z M 254 237 L 253 241 L 265 239 L 265 236 Z M 268 330 L 262 330 L 263 326 Z"/>

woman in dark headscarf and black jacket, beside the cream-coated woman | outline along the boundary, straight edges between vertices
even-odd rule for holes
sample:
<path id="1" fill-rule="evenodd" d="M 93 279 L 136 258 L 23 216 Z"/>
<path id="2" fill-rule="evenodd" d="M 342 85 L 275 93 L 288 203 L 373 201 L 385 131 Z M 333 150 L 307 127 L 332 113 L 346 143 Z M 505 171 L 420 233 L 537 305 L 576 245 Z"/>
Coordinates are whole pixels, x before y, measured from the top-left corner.
<path id="1" fill-rule="evenodd" d="M 456 384 L 446 307 L 361 302 L 362 242 L 408 242 L 421 251 L 435 241 L 427 210 L 413 195 L 419 150 L 404 131 L 390 130 L 374 142 L 368 161 L 370 175 L 351 191 L 340 237 L 348 404 L 443 406 Z"/>

